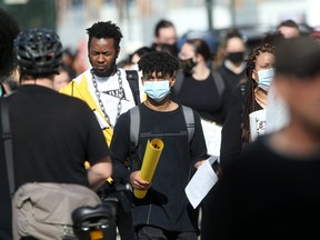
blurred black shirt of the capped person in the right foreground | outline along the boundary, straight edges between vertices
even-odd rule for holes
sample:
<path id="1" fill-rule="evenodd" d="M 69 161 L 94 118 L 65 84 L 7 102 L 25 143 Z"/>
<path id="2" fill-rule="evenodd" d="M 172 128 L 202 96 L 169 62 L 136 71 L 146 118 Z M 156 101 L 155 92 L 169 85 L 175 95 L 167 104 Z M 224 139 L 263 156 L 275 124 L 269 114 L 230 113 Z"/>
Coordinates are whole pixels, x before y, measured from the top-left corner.
<path id="1" fill-rule="evenodd" d="M 320 152 L 280 154 L 259 137 L 213 187 L 211 239 L 318 239 Z"/>

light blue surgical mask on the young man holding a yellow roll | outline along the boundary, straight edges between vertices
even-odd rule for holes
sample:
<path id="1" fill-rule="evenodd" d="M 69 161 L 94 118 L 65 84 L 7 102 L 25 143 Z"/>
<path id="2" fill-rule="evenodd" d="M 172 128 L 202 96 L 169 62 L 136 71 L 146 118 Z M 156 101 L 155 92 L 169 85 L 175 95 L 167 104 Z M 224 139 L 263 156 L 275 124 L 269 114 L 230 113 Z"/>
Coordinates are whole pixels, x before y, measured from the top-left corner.
<path id="1" fill-rule="evenodd" d="M 169 80 L 144 81 L 144 92 L 154 101 L 162 101 L 170 93 Z"/>

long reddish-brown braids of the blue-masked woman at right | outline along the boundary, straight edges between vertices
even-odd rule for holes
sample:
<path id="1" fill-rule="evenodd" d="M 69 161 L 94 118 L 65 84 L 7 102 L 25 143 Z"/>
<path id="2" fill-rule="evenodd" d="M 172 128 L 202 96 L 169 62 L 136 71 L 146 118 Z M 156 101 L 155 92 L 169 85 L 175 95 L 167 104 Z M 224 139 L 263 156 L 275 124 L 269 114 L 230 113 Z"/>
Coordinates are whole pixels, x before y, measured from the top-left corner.
<path id="1" fill-rule="evenodd" d="M 241 142 L 242 142 L 242 149 L 247 147 L 247 144 L 250 142 L 250 121 L 249 121 L 249 114 L 253 111 L 259 110 L 259 104 L 254 100 L 254 90 L 258 87 L 258 83 L 254 79 L 252 79 L 252 72 L 256 68 L 256 62 L 258 56 L 260 56 L 262 52 L 269 52 L 276 56 L 276 47 L 273 44 L 270 44 L 269 42 L 262 41 L 260 46 L 257 46 L 253 48 L 248 57 L 247 61 L 247 68 L 246 68 L 246 74 L 248 78 L 248 88 L 246 91 L 246 99 L 242 109 L 242 134 L 241 134 Z"/>

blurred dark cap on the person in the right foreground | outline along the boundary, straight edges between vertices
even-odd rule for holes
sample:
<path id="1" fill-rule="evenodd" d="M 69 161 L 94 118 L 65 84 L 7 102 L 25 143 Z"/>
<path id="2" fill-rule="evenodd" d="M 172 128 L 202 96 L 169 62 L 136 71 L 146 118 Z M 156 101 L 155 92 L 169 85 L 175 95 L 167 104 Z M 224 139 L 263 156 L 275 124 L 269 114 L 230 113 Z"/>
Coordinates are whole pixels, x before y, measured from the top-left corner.
<path id="1" fill-rule="evenodd" d="M 298 78 L 320 73 L 320 43 L 312 37 L 287 39 L 276 46 L 276 73 Z"/>

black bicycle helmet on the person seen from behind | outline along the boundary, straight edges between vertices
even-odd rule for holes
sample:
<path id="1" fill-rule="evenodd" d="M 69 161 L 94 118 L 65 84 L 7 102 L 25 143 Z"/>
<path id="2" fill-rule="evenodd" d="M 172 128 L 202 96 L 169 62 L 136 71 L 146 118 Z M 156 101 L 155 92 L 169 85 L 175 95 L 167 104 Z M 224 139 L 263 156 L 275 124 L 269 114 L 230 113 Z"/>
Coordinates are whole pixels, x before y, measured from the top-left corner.
<path id="1" fill-rule="evenodd" d="M 23 30 L 14 39 L 13 46 L 21 73 L 59 73 L 63 49 L 59 36 L 53 30 Z"/>

